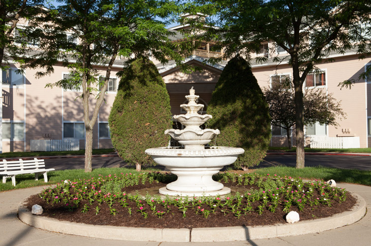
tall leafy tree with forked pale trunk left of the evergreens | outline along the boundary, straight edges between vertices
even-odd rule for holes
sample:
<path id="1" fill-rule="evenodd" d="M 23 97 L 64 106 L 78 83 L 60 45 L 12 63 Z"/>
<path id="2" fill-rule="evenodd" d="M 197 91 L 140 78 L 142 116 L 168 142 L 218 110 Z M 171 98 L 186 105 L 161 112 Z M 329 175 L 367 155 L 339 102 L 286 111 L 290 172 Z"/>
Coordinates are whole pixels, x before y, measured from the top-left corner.
<path id="1" fill-rule="evenodd" d="M 82 88 L 86 130 L 85 172 L 92 171 L 93 126 L 104 101 L 111 68 L 118 56 L 153 56 L 161 62 L 166 57 L 180 60 L 173 51 L 165 28 L 166 18 L 178 7 L 169 0 L 60 0 L 62 5 L 43 19 L 45 36 L 42 52 L 30 57 L 30 67 L 43 67 L 38 76 L 52 73 L 62 61 L 69 68 L 69 78 L 47 86 L 64 89 Z M 66 33 L 71 33 L 67 36 Z M 74 62 L 74 61 L 76 62 Z M 105 76 L 99 79 L 97 66 Z M 89 105 L 96 100 L 92 115 Z"/>

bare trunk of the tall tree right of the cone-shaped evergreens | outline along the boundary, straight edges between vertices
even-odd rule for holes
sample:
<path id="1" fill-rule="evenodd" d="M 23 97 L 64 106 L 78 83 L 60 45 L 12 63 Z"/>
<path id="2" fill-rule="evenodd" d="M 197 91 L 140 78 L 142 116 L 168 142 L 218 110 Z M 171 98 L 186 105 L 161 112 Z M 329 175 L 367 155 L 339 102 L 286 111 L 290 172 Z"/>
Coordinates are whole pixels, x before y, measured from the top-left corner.
<path id="1" fill-rule="evenodd" d="M 304 104 L 301 86 L 295 85 L 296 168 L 304 168 Z"/>

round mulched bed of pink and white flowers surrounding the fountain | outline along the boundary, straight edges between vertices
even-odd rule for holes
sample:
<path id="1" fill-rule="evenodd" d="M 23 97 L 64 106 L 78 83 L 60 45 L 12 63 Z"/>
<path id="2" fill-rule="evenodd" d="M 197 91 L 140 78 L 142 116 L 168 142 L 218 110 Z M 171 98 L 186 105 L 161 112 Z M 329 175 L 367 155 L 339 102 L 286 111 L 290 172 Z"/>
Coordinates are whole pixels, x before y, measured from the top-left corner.
<path id="1" fill-rule="evenodd" d="M 225 197 L 169 197 L 138 190 L 156 190 L 176 180 L 159 172 L 99 175 L 65 180 L 31 196 L 26 206 L 39 204 L 43 216 L 94 225 L 155 228 L 256 226 L 285 223 L 289 211 L 301 220 L 327 217 L 352 208 L 344 189 L 322 181 L 276 175 L 224 173 L 214 179 L 239 191 Z M 147 189 L 146 189 L 147 190 Z"/>

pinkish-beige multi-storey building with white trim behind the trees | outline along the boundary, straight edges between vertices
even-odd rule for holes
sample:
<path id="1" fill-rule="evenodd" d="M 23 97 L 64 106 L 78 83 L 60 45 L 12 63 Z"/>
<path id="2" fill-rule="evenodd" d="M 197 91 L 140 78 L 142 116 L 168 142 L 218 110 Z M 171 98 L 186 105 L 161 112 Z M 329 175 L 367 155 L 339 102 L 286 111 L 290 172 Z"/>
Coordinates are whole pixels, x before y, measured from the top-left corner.
<path id="1" fill-rule="evenodd" d="M 180 28 L 172 28 L 177 32 Z M 181 38 L 179 34 L 177 38 Z M 157 61 L 160 74 L 166 83 L 173 114 L 182 114 L 180 104 L 186 102 L 185 96 L 191 86 L 200 96 L 199 102 L 205 105 L 210 101 L 215 84 L 227 61 L 220 64 L 209 64 L 210 57 L 222 56 L 220 52 L 210 51 L 213 43 L 203 43 L 185 62 L 203 68 L 202 72 L 191 74 L 182 73 L 174 62 L 166 65 Z M 286 76 L 291 76 L 292 70 L 287 62 L 276 64 L 272 62 L 269 49 L 273 44 L 262 44 L 262 52 L 252 54 L 253 58 L 267 56 L 268 61 L 263 64 L 252 63 L 253 73 L 261 87 L 271 86 Z M 284 52 L 276 50 L 277 56 L 284 56 Z M 305 82 L 305 89 L 322 88 L 333 93 L 337 100 L 341 100 L 342 107 L 347 113 L 347 119 L 342 120 L 340 127 L 314 124 L 305 127 L 307 136 L 328 137 L 359 137 L 359 147 L 368 147 L 371 144 L 371 79 L 357 81 L 359 75 L 371 65 L 371 59 L 359 60 L 355 52 L 331 55 L 334 62 L 322 63 L 318 67 L 320 74 L 310 74 Z M 94 128 L 93 148 L 112 147 L 108 129 L 108 116 L 113 104 L 118 78 L 116 72 L 123 67 L 123 61 L 117 60 L 113 65 L 111 80 L 105 96 L 106 103 L 99 111 Z M 58 81 L 68 76 L 68 69 L 61 64 L 54 67 L 55 72 L 50 76 L 35 78 L 35 70 L 26 69 L 24 74 L 16 73 L 17 64 L 10 64 L 10 69 L 2 71 L 2 152 L 30 151 L 30 140 L 33 139 L 77 139 L 80 148 L 84 148 L 84 120 L 83 107 L 78 91 L 65 91 L 61 88 L 45 88 L 47 83 Z M 97 66 L 99 70 L 99 66 Z M 101 73 L 103 75 L 103 71 Z M 357 82 L 351 90 L 340 89 L 339 82 L 346 79 L 355 79 Z M 165 129 L 164 129 L 165 130 Z M 294 137 L 292 137 L 294 144 Z M 285 145 L 285 133 L 273 127 L 271 144 Z"/>

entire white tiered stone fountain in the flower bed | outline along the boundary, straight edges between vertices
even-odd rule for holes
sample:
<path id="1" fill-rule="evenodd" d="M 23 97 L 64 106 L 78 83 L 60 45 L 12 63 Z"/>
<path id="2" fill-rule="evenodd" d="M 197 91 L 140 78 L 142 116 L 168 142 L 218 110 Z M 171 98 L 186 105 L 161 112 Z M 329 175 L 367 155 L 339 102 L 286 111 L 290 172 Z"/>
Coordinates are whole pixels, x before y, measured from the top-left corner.
<path id="1" fill-rule="evenodd" d="M 146 149 L 146 154 L 165 167 L 178 179 L 166 187 L 160 188 L 160 194 L 179 196 L 213 196 L 225 195 L 231 189 L 212 179 L 214 174 L 226 165 L 237 160 L 239 154 L 244 153 L 242 148 L 212 146 L 205 148 L 205 144 L 220 133 L 218 129 L 201 129 L 200 125 L 211 119 L 211 115 L 199 115 L 203 109 L 202 104 L 197 104 L 199 96 L 194 95 L 193 87 L 186 96 L 188 104 L 181 107 L 186 110 L 186 115 L 173 116 L 186 127 L 183 130 L 167 129 L 169 134 L 184 148 L 159 147 Z"/>

